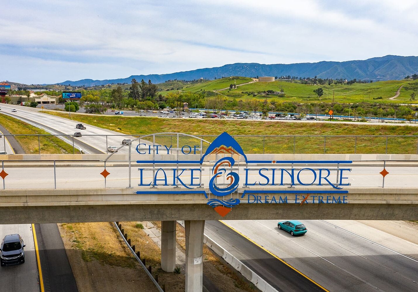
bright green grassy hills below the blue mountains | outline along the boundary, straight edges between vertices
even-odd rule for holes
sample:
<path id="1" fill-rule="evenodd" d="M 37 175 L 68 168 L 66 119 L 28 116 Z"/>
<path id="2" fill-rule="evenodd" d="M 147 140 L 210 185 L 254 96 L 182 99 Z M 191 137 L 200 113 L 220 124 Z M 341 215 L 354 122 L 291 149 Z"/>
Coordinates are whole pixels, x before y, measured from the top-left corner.
<path id="1" fill-rule="evenodd" d="M 205 81 L 197 84 L 185 84 L 176 81 L 176 84 L 167 84 L 167 89 L 170 91 L 161 91 L 163 95 L 168 92 L 177 92 L 177 88 L 181 88 L 181 91 L 189 92 L 201 92 L 201 91 L 214 91 L 218 90 L 218 94 L 229 97 L 230 99 L 246 100 L 246 99 L 265 99 L 275 98 L 280 101 L 288 102 L 332 102 L 333 95 L 335 102 L 341 103 L 353 103 L 353 102 L 384 102 L 384 103 L 418 103 L 418 80 L 390 80 L 390 81 L 378 81 L 372 83 L 354 83 L 352 85 L 347 84 L 325 84 L 325 85 L 312 85 L 301 84 L 296 82 L 287 81 L 274 81 L 274 82 L 253 82 L 238 86 L 236 89 L 229 89 L 229 84 L 234 82 L 244 84 L 252 81 L 247 77 L 228 77 L 212 81 Z M 396 92 L 400 90 L 400 95 L 395 99 L 390 97 L 395 96 Z M 318 87 L 324 89 L 324 95 L 319 100 L 314 90 Z M 228 89 L 224 89 L 228 88 Z M 224 89 L 224 90 L 219 90 Z M 274 94 L 265 95 L 265 91 L 273 90 L 275 92 L 283 89 L 284 96 L 278 96 Z M 410 94 L 417 93 L 417 101 L 410 101 Z M 382 97 L 378 99 L 378 97 Z"/>

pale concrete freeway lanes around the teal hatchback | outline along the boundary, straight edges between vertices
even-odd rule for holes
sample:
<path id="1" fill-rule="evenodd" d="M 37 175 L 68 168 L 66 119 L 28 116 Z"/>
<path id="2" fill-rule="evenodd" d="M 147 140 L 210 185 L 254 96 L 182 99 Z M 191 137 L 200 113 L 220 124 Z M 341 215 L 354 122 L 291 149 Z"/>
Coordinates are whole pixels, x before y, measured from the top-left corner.
<path id="1" fill-rule="evenodd" d="M 228 223 L 256 242 L 262 242 L 267 249 L 320 284 L 328 283 L 332 291 L 344 291 L 341 283 L 345 286 L 351 282 L 357 282 L 356 290 L 364 291 L 375 288 L 382 291 L 414 291 L 417 287 L 413 282 L 417 277 L 413 272 L 416 263 L 409 259 L 364 239 L 344 234 L 344 231 L 321 221 L 303 221 L 308 232 L 295 237 L 278 230 L 278 221 L 281 220 Z M 340 279 L 330 281 L 330 274 L 339 275 Z"/>

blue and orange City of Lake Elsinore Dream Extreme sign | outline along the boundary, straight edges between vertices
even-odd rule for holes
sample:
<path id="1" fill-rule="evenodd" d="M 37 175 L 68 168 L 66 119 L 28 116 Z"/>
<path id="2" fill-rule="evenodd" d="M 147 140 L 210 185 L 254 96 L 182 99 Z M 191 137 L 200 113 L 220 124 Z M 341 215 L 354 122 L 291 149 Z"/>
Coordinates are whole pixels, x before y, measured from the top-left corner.
<path id="1" fill-rule="evenodd" d="M 196 137 L 197 138 L 197 137 Z M 208 142 L 209 143 L 209 142 Z M 141 148 L 141 145 L 145 146 Z M 315 161 L 279 161 L 279 160 L 250 160 L 245 155 L 242 147 L 227 132 L 219 135 L 203 153 L 201 145 L 184 145 L 180 148 L 173 145 L 146 145 L 139 143 L 136 151 L 140 155 L 153 154 L 153 160 L 138 160 L 139 184 L 138 186 L 152 186 L 151 190 L 138 190 L 137 194 L 202 194 L 208 201 L 207 204 L 221 216 L 227 215 L 233 207 L 246 203 L 347 203 L 348 190 L 343 186 L 349 185 L 347 173 L 349 168 L 340 168 L 340 163 L 352 163 L 347 160 L 315 160 Z M 168 155 L 172 152 L 181 152 L 183 157 L 177 154 L 176 160 L 156 159 L 156 155 Z M 189 160 L 187 155 L 199 155 L 199 160 Z M 191 158 L 194 158 L 191 157 Z M 209 168 L 202 167 L 203 164 Z M 145 175 L 149 168 L 142 165 L 161 164 L 153 168 L 152 178 Z M 245 165 L 245 167 L 240 167 Z M 285 165 L 301 165 L 296 168 L 286 168 Z M 329 165 L 337 168 L 330 169 Z M 173 165 L 167 168 L 167 165 Z M 180 166 L 187 165 L 187 166 Z M 314 168 L 312 165 L 324 165 Z M 325 166 L 326 165 L 326 166 Z M 209 193 L 203 190 L 201 180 L 202 172 L 209 170 Z M 336 182 L 331 182 L 331 172 L 336 171 Z M 334 175 L 332 175 L 334 177 Z M 290 188 L 275 186 L 289 185 Z M 174 186 L 184 187 L 186 190 L 160 190 L 159 187 Z M 238 190 L 239 186 L 244 190 Z M 269 187 L 272 187 L 268 189 Z M 308 187 L 295 190 L 294 186 Z M 320 187 L 329 187 L 324 190 Z M 241 191 L 241 193 L 239 193 Z M 261 196 L 263 194 L 263 197 Z M 268 194 L 268 195 L 266 195 Z M 315 196 L 310 196 L 315 194 Z M 319 196 L 323 194 L 324 196 Z M 291 197 L 288 198 L 288 195 Z M 308 197 L 310 201 L 307 201 Z"/>

